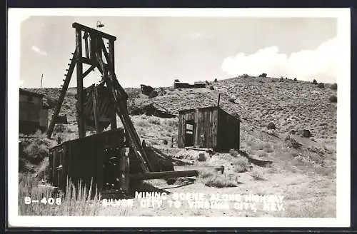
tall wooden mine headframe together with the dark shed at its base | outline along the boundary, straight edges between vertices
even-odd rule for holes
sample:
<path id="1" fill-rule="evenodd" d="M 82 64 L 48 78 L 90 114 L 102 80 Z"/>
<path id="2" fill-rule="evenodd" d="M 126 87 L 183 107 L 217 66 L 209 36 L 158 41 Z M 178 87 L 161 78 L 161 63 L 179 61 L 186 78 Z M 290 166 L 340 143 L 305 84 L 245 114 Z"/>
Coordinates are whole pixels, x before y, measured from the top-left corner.
<path id="1" fill-rule="evenodd" d="M 50 138 L 52 135 L 76 67 L 79 139 L 51 148 L 52 183 L 64 190 L 67 178 L 72 181 L 82 180 L 86 184 L 93 179 L 92 182 L 100 191 L 108 189 L 109 186 L 125 195 L 129 190 L 129 178 L 135 181 L 198 175 L 194 170 L 174 171 L 172 163 L 171 166 L 159 166 L 161 161 L 157 160 L 156 156 L 150 156 L 146 144 L 140 141 L 129 117 L 128 95 L 114 72 L 116 37 L 78 23 L 72 26 L 76 30 L 76 49 L 69 63 L 47 136 Z M 108 43 L 108 49 L 104 41 Z M 86 71 L 83 71 L 84 64 L 90 66 Z M 84 88 L 83 80 L 94 68 L 100 71 L 101 81 L 97 85 Z M 117 116 L 124 128 L 117 128 Z M 109 124 L 111 130 L 104 131 Z M 86 136 L 87 126 L 94 126 L 96 134 Z"/>

